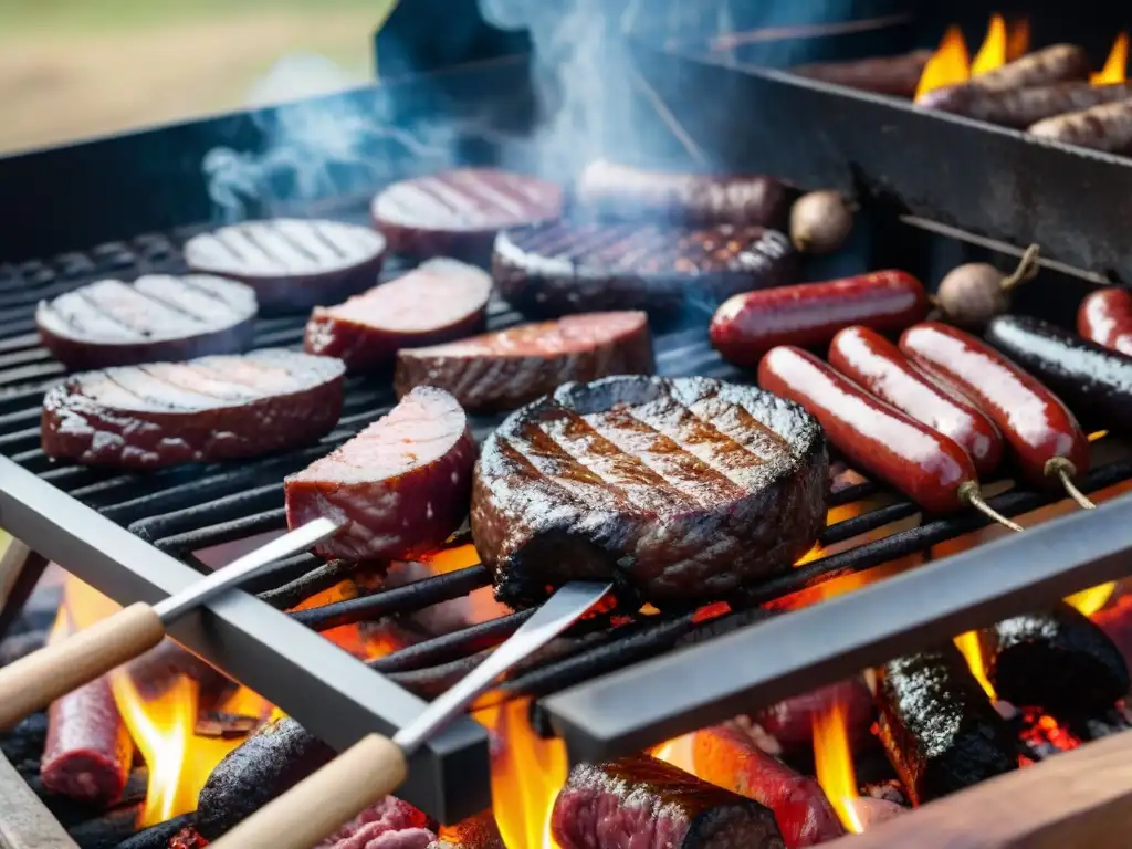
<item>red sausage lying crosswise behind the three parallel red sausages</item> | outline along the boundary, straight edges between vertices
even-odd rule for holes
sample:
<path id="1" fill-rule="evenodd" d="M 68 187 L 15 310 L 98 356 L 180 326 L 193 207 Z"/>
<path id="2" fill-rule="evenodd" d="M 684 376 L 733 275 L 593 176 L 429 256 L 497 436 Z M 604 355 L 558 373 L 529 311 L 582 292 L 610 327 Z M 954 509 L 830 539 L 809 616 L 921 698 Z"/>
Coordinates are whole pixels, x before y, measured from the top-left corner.
<path id="1" fill-rule="evenodd" d="M 737 294 L 715 310 L 709 335 L 724 360 L 753 367 L 775 345 L 826 345 L 855 324 L 902 331 L 924 320 L 927 310 L 927 293 L 916 277 L 874 272 Z"/>

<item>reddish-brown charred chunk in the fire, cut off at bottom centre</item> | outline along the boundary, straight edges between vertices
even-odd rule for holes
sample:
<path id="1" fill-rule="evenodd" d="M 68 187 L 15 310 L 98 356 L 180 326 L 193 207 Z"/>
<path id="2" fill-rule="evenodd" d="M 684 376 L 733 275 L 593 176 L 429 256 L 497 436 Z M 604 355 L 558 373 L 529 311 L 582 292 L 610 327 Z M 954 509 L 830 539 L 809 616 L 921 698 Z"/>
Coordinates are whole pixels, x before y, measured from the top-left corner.
<path id="1" fill-rule="evenodd" d="M 649 755 L 571 770 L 550 827 L 563 849 L 784 849 L 757 801 Z"/>

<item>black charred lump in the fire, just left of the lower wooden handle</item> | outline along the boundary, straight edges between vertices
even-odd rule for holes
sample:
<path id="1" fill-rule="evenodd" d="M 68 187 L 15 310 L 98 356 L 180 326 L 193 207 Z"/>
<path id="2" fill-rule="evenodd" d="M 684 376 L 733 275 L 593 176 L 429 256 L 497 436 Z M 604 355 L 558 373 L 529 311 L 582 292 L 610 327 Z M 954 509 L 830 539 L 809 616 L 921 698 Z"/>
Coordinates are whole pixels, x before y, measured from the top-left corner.
<path id="1" fill-rule="evenodd" d="M 334 749 L 290 717 L 264 726 L 208 777 L 197 799 L 197 829 L 215 840 L 333 757 Z"/>

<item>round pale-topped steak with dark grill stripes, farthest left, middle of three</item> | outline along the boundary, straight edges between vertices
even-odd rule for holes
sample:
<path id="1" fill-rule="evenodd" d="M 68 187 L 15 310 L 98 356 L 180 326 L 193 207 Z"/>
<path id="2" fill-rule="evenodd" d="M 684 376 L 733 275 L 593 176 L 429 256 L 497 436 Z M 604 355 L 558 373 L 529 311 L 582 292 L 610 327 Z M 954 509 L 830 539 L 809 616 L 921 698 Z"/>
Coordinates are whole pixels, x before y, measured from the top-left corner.
<path id="1" fill-rule="evenodd" d="M 69 369 L 188 360 L 251 345 L 256 293 L 221 277 L 100 280 L 43 301 L 43 346 Z"/>

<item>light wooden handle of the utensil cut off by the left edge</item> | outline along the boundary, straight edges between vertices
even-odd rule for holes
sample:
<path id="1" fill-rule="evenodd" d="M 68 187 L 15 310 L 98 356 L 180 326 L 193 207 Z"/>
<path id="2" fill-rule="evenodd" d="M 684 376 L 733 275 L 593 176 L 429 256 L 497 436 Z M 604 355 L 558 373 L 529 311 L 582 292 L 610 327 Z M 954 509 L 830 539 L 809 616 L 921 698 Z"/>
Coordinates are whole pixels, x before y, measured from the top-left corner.
<path id="1" fill-rule="evenodd" d="M 0 669 L 0 729 L 148 651 L 165 626 L 140 601 Z"/>

